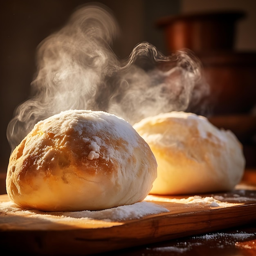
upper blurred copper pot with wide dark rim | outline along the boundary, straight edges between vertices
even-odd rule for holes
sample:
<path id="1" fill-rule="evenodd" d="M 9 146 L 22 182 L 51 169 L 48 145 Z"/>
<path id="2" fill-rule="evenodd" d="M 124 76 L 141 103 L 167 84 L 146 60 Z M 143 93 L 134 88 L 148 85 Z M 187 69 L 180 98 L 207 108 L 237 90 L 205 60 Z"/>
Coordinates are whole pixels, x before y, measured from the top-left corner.
<path id="1" fill-rule="evenodd" d="M 188 48 L 194 52 L 232 49 L 236 22 L 245 16 L 241 11 L 190 13 L 158 20 L 164 29 L 169 52 Z"/>

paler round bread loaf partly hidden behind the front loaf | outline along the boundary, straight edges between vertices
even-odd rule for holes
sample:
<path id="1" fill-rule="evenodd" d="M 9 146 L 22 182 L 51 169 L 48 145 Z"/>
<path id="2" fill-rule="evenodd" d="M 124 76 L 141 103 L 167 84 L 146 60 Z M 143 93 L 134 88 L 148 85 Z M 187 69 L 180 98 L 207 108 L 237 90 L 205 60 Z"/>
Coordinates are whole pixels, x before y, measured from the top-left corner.
<path id="1" fill-rule="evenodd" d="M 157 159 L 153 194 L 227 191 L 240 182 L 243 148 L 229 130 L 186 112 L 148 117 L 133 126 Z"/>

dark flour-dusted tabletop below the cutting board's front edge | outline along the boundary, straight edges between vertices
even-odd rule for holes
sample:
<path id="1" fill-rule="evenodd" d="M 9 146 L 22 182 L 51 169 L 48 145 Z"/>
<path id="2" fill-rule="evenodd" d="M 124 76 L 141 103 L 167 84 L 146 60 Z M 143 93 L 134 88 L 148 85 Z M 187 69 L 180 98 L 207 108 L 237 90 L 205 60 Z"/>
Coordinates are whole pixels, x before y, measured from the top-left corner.
<path id="1" fill-rule="evenodd" d="M 105 254 L 98 254 L 105 255 Z M 255 256 L 256 223 L 123 249 L 112 256 Z"/>

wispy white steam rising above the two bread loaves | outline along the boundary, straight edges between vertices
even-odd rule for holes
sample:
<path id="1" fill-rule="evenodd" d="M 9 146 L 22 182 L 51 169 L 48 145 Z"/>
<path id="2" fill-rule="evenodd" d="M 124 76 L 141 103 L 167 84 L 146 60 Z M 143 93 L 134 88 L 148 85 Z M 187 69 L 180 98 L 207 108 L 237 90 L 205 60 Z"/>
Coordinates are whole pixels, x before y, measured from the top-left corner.
<path id="1" fill-rule="evenodd" d="M 84 6 L 38 45 L 32 97 L 17 107 L 7 128 L 11 150 L 38 121 L 63 110 L 103 110 L 134 124 L 161 112 L 189 110 L 209 93 L 193 54 L 164 56 L 140 43 L 120 60 L 111 49 L 118 31 L 106 9 Z"/>

